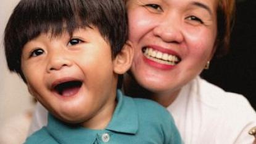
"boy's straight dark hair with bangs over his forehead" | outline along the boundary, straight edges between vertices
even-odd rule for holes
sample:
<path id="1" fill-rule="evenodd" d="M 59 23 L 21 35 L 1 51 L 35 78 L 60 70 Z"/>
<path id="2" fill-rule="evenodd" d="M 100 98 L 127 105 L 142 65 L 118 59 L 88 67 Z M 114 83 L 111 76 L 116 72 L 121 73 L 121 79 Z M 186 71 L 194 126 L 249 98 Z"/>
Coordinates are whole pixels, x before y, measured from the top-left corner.
<path id="1" fill-rule="evenodd" d="M 112 56 L 122 49 L 128 37 L 123 0 L 22 0 L 10 16 L 4 34 L 7 65 L 23 80 L 21 55 L 23 46 L 42 33 L 70 36 L 77 28 L 96 26 L 110 44 Z"/>

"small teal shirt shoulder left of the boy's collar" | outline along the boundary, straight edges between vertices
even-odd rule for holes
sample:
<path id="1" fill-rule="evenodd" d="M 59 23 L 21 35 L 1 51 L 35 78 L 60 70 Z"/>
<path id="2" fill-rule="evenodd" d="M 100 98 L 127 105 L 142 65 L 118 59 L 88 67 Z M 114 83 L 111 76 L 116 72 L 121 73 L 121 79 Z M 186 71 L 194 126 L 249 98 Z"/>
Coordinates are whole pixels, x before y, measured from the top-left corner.
<path id="1" fill-rule="evenodd" d="M 31 144 L 33 144 L 33 143 L 56 144 L 57 142 L 47 132 L 46 127 L 43 127 L 41 129 L 39 129 L 38 131 L 36 131 L 35 133 L 33 133 L 32 135 L 30 135 L 30 137 L 28 137 L 26 139 L 25 144 L 30 144 L 30 143 Z"/>

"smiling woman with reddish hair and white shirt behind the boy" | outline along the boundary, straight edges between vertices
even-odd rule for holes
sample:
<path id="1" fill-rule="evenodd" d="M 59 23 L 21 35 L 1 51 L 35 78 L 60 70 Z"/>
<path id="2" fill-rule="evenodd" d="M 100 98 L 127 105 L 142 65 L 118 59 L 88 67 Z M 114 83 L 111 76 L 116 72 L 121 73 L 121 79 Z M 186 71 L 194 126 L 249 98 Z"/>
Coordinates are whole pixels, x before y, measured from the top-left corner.
<path id="1" fill-rule="evenodd" d="M 126 6 L 135 52 L 125 93 L 167 107 L 184 143 L 252 143 L 256 114 L 249 102 L 199 77 L 214 55 L 228 50 L 234 1 L 128 0 Z"/>

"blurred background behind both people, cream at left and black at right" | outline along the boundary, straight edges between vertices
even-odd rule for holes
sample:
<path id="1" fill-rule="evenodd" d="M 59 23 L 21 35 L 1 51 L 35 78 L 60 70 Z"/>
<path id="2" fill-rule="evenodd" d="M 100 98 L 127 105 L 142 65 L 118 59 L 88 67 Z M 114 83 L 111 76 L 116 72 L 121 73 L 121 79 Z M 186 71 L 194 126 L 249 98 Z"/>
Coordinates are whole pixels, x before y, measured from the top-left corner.
<path id="1" fill-rule="evenodd" d="M 27 87 L 7 70 L 2 36 L 7 20 L 18 0 L 1 0 L 0 5 L 0 123 L 33 108 Z M 256 0 L 237 1 L 236 21 L 228 55 L 213 59 L 202 77 L 226 91 L 243 94 L 256 109 Z M 15 39 L 15 37 L 14 37 Z"/>

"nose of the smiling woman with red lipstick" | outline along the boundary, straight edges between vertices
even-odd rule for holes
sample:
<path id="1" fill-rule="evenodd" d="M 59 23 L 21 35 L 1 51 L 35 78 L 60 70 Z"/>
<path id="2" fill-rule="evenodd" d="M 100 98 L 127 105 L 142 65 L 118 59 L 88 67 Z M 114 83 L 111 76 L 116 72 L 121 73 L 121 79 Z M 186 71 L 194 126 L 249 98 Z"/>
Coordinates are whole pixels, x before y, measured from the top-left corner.
<path id="1" fill-rule="evenodd" d="M 181 28 L 181 23 L 177 18 L 167 15 L 162 17 L 162 20 L 155 26 L 153 33 L 154 36 L 160 37 L 164 42 L 180 43 L 184 39 Z"/>

